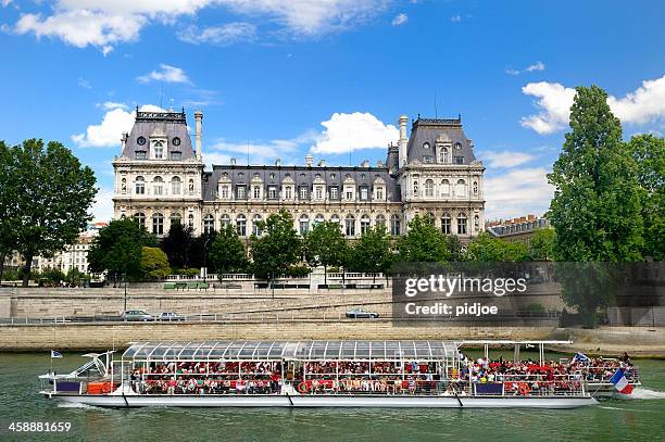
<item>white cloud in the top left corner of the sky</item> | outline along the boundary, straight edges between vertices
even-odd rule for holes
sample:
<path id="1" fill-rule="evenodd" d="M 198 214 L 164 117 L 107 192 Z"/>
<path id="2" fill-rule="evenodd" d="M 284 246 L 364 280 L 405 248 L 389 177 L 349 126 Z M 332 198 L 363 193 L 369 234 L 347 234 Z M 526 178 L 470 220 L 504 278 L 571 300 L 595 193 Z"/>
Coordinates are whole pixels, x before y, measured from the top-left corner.
<path id="1" fill-rule="evenodd" d="M 58 12 L 45 20 L 40 14 L 24 14 L 16 23 L 14 31 L 33 33 L 37 38 L 57 37 L 77 48 L 90 45 L 106 54 L 114 43 L 136 40 L 145 22 L 146 18 L 141 15 L 76 9 Z"/>

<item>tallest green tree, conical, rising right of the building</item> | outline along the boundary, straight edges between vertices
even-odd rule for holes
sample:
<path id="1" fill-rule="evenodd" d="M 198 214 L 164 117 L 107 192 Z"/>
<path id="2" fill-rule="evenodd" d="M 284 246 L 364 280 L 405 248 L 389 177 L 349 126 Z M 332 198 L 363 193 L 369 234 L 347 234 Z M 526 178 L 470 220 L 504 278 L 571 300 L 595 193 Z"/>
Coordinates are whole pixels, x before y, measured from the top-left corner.
<path id="1" fill-rule="evenodd" d="M 561 261 L 639 261 L 642 249 L 636 164 L 607 93 L 578 87 L 563 151 L 548 175 L 554 199 L 548 217 Z"/>

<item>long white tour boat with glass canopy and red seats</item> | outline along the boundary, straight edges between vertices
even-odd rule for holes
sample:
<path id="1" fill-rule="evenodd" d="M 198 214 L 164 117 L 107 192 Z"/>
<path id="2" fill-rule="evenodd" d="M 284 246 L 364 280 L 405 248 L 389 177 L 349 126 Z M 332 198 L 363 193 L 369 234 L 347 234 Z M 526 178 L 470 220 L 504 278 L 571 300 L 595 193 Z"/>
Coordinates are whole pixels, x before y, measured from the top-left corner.
<path id="1" fill-rule="evenodd" d="M 495 341 L 484 341 L 487 348 Z M 136 342 L 88 353 L 41 393 L 104 407 L 532 407 L 593 405 L 582 372 L 469 359 L 449 341 Z M 529 344 L 516 342 L 515 345 Z M 518 352 L 515 352 L 518 354 Z M 476 368 L 474 368 L 476 367 Z M 561 368 L 561 367 L 560 367 Z M 565 371 L 565 372 L 560 372 Z"/>

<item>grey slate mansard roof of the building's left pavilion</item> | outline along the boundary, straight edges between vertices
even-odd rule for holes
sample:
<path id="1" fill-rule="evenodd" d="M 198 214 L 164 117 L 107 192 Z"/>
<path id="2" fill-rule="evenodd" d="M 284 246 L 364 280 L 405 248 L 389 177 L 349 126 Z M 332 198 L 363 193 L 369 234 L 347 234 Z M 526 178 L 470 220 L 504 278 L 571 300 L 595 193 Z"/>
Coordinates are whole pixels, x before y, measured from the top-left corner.
<path id="1" fill-rule="evenodd" d="M 140 112 L 136 110 L 136 121 L 127 138 L 123 155 L 130 160 L 137 160 L 136 152 L 145 151 L 146 156 L 150 157 L 150 136 L 155 132 L 166 135 L 168 140 L 168 159 L 172 152 L 181 152 L 181 159 L 188 160 L 196 156 L 191 147 L 191 140 L 187 132 L 187 116 L 185 110 L 183 112 Z M 139 137 L 146 138 L 146 143 L 139 146 L 137 140 Z M 174 146 L 174 138 L 180 139 L 180 146 Z"/>

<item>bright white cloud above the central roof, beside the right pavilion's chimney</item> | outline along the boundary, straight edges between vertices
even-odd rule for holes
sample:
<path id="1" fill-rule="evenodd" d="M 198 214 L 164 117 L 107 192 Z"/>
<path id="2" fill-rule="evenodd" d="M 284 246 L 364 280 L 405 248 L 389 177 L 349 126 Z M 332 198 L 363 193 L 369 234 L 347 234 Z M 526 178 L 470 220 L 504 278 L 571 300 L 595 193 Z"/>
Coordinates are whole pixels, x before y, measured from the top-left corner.
<path id="1" fill-rule="evenodd" d="M 335 113 L 323 122 L 326 129 L 312 147 L 314 153 L 348 153 L 359 149 L 386 149 L 399 139 L 399 130 L 371 113 Z"/>

